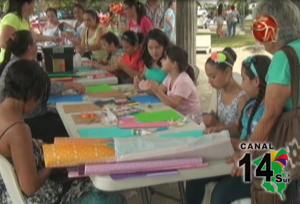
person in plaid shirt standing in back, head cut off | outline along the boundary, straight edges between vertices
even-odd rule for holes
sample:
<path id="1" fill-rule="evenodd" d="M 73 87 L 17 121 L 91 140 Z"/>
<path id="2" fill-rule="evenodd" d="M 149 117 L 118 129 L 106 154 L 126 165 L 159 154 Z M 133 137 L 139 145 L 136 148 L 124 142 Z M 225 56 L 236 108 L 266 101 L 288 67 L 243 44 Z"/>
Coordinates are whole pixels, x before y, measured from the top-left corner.
<path id="1" fill-rule="evenodd" d="M 164 20 L 164 9 L 158 0 L 148 0 L 145 7 L 146 16 L 151 20 L 153 28 L 161 28 Z"/>

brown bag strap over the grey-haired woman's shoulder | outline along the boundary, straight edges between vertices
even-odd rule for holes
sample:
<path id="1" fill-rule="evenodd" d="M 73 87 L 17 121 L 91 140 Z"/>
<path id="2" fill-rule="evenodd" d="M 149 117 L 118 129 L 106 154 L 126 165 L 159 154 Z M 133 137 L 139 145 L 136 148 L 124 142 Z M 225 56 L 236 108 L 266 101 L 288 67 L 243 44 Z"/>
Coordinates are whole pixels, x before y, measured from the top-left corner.
<path id="1" fill-rule="evenodd" d="M 281 49 L 289 60 L 289 69 L 291 73 L 291 95 L 292 95 L 292 107 L 296 113 L 298 108 L 299 97 L 299 58 L 294 48 L 291 46 L 284 46 Z"/>

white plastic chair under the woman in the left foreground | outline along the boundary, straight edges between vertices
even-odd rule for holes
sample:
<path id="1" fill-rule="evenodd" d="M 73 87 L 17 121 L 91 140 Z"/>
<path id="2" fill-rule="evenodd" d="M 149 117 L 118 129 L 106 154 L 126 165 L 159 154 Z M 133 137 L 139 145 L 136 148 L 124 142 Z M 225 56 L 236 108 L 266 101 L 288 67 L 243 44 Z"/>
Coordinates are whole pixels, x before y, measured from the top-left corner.
<path id="1" fill-rule="evenodd" d="M 26 204 L 22 191 L 10 163 L 0 155 L 0 175 L 13 204 Z"/>

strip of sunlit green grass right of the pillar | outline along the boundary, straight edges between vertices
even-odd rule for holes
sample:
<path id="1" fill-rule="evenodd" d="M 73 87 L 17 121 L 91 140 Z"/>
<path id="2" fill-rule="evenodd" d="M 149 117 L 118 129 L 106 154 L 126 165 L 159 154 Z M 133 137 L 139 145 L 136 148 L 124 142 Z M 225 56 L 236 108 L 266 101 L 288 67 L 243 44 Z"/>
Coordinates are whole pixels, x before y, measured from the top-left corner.
<path id="1" fill-rule="evenodd" d="M 197 33 L 198 35 L 205 35 L 204 33 Z M 255 40 L 251 35 L 236 35 L 234 37 L 218 38 L 216 34 L 211 34 L 212 48 L 240 48 L 244 46 L 255 45 Z"/>

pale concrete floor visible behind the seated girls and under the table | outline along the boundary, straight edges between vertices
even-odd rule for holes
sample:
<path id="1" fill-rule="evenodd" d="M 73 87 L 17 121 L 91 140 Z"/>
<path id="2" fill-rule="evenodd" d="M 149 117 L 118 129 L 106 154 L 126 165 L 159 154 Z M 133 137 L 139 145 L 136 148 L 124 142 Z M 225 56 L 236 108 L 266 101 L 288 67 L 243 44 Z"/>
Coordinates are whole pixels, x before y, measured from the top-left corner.
<path id="1" fill-rule="evenodd" d="M 212 52 L 215 51 L 222 51 L 223 48 L 213 48 Z M 258 52 L 253 52 L 253 50 L 251 49 L 246 49 L 246 48 L 237 48 L 234 49 L 235 52 L 237 53 L 237 60 L 235 62 L 235 65 L 233 67 L 233 72 L 237 72 L 237 73 L 241 73 L 241 63 L 242 61 L 251 55 L 254 54 L 266 54 L 269 57 L 271 57 L 270 54 L 266 53 L 265 51 L 261 50 Z M 205 62 L 207 60 L 207 58 L 210 56 L 210 54 L 197 54 L 197 66 L 200 69 L 200 73 L 199 73 L 199 77 L 198 77 L 198 81 L 199 81 L 199 85 L 196 87 L 199 97 L 200 97 L 200 102 L 202 105 L 202 109 L 204 111 L 207 111 L 208 106 L 209 106 L 209 101 L 210 101 L 210 97 L 211 97 L 211 86 L 208 84 L 208 77 L 205 74 Z M 178 185 L 177 183 L 168 183 L 168 184 L 163 184 L 163 185 L 158 185 L 158 186 L 153 186 L 155 188 L 155 190 L 164 192 L 165 194 L 169 194 L 173 197 L 177 197 L 179 198 L 179 191 L 178 191 Z M 140 193 L 140 189 L 132 189 L 132 190 L 128 190 L 128 191 L 136 191 L 137 192 L 137 196 L 134 196 L 132 198 L 130 198 L 128 200 L 128 204 L 140 204 L 142 203 L 142 198 L 141 198 L 141 193 Z M 126 191 L 126 192 L 128 192 Z M 150 198 L 150 193 L 148 191 L 148 197 Z M 175 201 L 160 197 L 158 195 L 154 195 L 152 196 L 152 204 L 178 204 Z"/>

